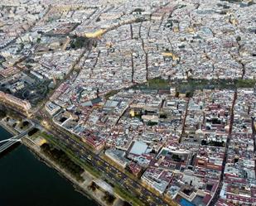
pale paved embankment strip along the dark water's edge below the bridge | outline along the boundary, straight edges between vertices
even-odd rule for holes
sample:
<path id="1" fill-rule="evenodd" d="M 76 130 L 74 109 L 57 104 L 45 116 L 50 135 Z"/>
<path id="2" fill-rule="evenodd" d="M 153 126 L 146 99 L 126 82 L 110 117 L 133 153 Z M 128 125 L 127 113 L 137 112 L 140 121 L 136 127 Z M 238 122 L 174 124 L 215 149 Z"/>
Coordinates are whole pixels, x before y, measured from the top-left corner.
<path id="1" fill-rule="evenodd" d="M 55 169 L 60 175 L 64 176 L 65 179 L 69 180 L 71 184 L 75 187 L 76 190 L 78 190 L 81 194 L 85 195 L 89 199 L 94 199 L 97 204 L 102 205 L 102 206 L 109 206 L 106 202 L 104 202 L 103 196 L 104 193 L 101 190 L 98 191 L 93 191 L 89 188 L 89 185 L 97 180 L 94 178 L 93 175 L 90 175 L 88 172 L 84 172 L 82 177 L 84 178 L 83 182 L 80 182 L 76 180 L 72 175 L 67 173 L 63 168 L 60 167 L 60 165 L 57 165 L 55 161 L 51 160 L 48 156 L 46 156 L 42 151 L 40 146 L 37 146 L 34 142 L 29 140 L 28 138 L 23 138 L 22 143 L 24 146 L 27 146 L 29 151 L 31 151 L 39 160 L 44 162 L 46 165 L 49 167 Z M 111 204 L 113 206 L 120 206 L 123 201 L 121 199 L 116 199 L 114 200 L 114 204 Z"/>

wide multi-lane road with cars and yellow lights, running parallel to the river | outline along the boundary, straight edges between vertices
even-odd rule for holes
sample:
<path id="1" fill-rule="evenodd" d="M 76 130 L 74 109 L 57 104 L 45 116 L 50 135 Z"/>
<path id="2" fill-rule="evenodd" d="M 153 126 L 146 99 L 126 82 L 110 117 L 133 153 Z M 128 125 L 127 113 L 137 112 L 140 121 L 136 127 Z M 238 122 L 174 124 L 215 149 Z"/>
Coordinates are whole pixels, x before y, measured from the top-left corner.
<path id="1" fill-rule="evenodd" d="M 151 191 L 142 186 L 142 184 L 139 184 L 136 180 L 133 180 L 128 175 L 124 174 L 123 171 L 118 170 L 113 165 L 110 165 L 109 162 L 94 154 L 93 151 L 90 151 L 81 142 L 75 141 L 63 130 L 60 130 L 59 127 L 56 127 L 56 125 L 51 122 L 51 119 L 46 116 L 44 117 L 46 122 L 48 122 L 51 126 L 51 131 L 48 130 L 47 132 L 64 143 L 65 146 L 67 146 L 78 157 L 80 157 L 80 160 L 83 160 L 89 165 L 93 165 L 97 170 L 104 174 L 108 180 L 113 183 L 118 183 L 123 187 L 124 190 L 128 190 L 130 194 L 133 194 L 134 197 L 140 199 L 145 205 L 169 205 L 165 200 L 162 199 L 162 197 L 157 197 L 157 194 L 153 194 Z M 35 122 L 37 124 L 40 123 L 36 120 Z"/>

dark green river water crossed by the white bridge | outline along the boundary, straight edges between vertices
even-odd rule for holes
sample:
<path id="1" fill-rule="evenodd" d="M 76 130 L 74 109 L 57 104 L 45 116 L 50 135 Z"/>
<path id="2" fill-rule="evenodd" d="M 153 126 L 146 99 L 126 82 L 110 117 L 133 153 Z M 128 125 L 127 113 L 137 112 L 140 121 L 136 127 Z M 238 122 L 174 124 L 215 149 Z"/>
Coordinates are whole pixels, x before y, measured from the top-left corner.
<path id="1" fill-rule="evenodd" d="M 0 127 L 0 140 L 12 137 Z M 0 206 L 96 206 L 26 146 L 0 157 Z"/>

